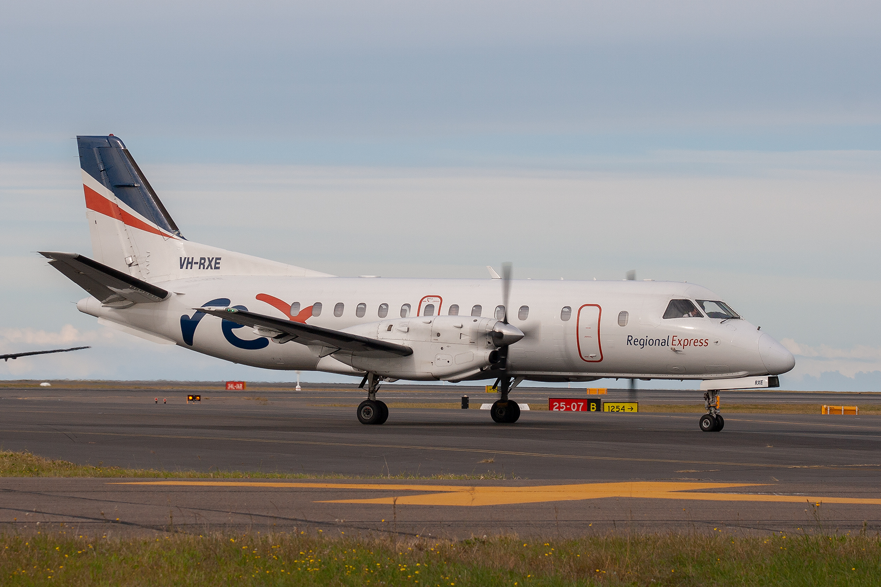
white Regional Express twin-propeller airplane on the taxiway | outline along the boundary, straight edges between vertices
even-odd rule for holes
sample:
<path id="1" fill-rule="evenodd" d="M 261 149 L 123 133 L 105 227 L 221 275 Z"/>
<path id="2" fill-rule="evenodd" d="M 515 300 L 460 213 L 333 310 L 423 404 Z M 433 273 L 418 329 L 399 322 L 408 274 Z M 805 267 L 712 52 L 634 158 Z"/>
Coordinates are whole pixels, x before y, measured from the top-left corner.
<path id="1" fill-rule="evenodd" d="M 381 424 L 381 383 L 495 380 L 514 423 L 522 381 L 700 380 L 774 387 L 795 359 L 713 291 L 688 282 L 338 277 L 189 241 L 113 135 L 78 136 L 92 257 L 41 252 L 88 294 L 100 324 L 233 363 L 361 379 L 359 422 Z"/>

